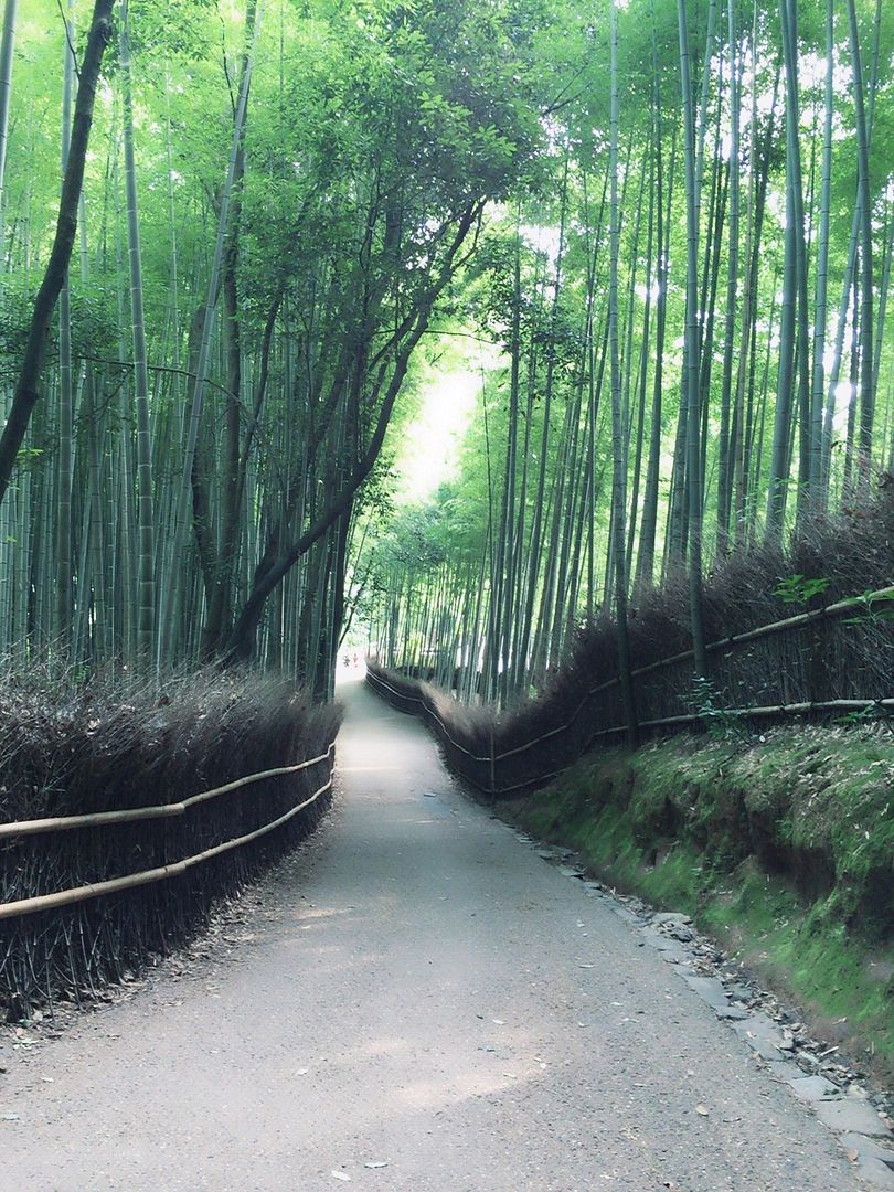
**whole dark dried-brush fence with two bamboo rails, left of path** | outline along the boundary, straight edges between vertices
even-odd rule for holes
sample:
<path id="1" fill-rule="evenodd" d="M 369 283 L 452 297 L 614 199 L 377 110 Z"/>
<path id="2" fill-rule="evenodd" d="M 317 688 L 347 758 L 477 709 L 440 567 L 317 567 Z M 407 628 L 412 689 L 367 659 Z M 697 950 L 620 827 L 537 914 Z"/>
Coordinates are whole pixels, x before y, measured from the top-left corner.
<path id="1" fill-rule="evenodd" d="M 201 672 L 0 696 L 0 1013 L 80 1000 L 188 940 L 308 836 L 339 714 L 287 684 Z"/>

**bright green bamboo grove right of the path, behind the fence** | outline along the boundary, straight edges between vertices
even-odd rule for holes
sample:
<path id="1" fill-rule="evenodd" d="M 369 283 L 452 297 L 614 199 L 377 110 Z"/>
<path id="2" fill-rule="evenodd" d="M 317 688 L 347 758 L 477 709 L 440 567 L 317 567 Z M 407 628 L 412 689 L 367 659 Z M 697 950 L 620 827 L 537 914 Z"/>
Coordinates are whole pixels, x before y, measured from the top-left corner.
<path id="1" fill-rule="evenodd" d="M 623 677 L 628 602 L 685 575 L 704 676 L 713 567 L 869 514 L 894 471 L 892 17 L 604 6 L 547 186 L 470 271 L 465 329 L 499 358 L 459 467 L 359 567 L 384 664 L 513 704 L 610 610 Z"/>

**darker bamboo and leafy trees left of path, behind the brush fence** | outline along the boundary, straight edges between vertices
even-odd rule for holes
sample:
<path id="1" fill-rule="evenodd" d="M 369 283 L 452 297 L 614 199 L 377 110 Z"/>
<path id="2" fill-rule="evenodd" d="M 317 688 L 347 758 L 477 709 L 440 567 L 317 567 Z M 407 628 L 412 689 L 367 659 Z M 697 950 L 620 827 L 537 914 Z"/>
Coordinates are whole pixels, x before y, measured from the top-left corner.
<path id="1" fill-rule="evenodd" d="M 358 493 L 542 142 L 534 7 L 7 0 L 0 601 L 21 662 L 254 657 L 330 690 Z"/>

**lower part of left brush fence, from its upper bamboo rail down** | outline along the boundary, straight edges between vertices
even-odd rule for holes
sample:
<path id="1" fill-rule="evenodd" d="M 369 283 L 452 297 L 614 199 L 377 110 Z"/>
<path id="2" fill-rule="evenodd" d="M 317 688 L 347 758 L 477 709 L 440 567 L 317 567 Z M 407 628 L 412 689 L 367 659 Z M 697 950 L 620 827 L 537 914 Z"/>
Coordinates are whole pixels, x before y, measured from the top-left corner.
<path id="1" fill-rule="evenodd" d="M 316 827 L 334 756 L 173 803 L 0 824 L 0 1012 L 89 997 L 188 940 Z"/>

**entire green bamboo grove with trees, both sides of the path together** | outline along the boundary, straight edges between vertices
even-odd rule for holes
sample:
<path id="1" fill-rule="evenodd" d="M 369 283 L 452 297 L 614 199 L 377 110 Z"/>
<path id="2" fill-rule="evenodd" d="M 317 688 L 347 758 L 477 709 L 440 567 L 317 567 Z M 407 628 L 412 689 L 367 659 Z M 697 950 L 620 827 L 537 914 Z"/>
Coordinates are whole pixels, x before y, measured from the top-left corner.
<path id="1" fill-rule="evenodd" d="M 697 659 L 713 560 L 894 471 L 893 44 L 881 0 L 6 0 L 5 650 L 327 696 L 362 626 L 508 703 L 685 569 Z"/>

